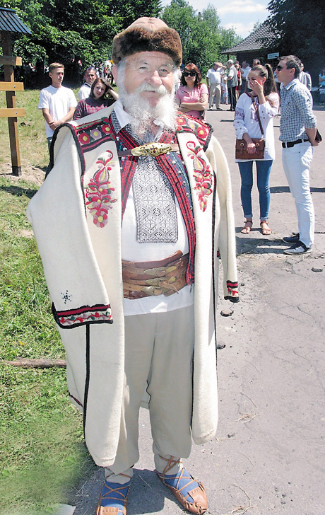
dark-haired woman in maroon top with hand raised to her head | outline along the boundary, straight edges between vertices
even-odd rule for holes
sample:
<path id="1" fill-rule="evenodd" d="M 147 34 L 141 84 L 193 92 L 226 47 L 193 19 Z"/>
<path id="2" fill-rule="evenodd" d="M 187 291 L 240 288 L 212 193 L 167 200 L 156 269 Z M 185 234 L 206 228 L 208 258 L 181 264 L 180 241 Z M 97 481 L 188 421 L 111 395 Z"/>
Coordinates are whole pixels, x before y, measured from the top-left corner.
<path id="1" fill-rule="evenodd" d="M 88 98 L 79 100 L 73 115 L 73 120 L 91 115 L 100 109 L 107 108 L 117 100 L 119 96 L 106 79 L 95 79 L 90 89 Z"/>

